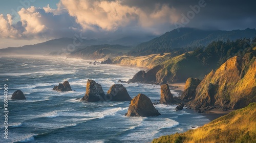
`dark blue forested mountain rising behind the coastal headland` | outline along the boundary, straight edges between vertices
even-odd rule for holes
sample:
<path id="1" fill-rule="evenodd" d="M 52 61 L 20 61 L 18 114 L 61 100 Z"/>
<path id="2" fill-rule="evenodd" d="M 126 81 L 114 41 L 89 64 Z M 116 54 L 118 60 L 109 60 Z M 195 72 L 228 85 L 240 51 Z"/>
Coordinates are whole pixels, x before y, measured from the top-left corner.
<path id="1" fill-rule="evenodd" d="M 245 30 L 199 30 L 194 28 L 180 28 L 166 32 L 160 37 L 137 45 L 129 55 L 144 56 L 157 53 L 173 52 L 173 49 L 180 47 L 205 46 L 212 41 L 236 40 L 239 38 L 253 38 L 255 29 Z"/>

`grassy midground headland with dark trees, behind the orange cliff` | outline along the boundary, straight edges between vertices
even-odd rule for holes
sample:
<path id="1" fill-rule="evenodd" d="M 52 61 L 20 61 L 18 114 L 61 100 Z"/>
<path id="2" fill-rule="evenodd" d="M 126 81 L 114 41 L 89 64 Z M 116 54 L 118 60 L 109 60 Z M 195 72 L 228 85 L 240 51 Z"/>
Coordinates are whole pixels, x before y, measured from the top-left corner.
<path id="1" fill-rule="evenodd" d="M 121 65 L 147 68 L 161 65 L 162 68 L 155 74 L 155 82 L 159 84 L 178 83 L 185 82 L 190 77 L 202 80 L 212 69 L 219 68 L 229 58 L 252 52 L 252 44 L 250 39 L 228 40 L 227 42 L 214 41 L 204 49 L 199 47 L 193 52 L 187 52 L 179 56 L 176 56 L 175 53 L 139 57 L 121 56 L 113 58 L 112 61 Z"/>

